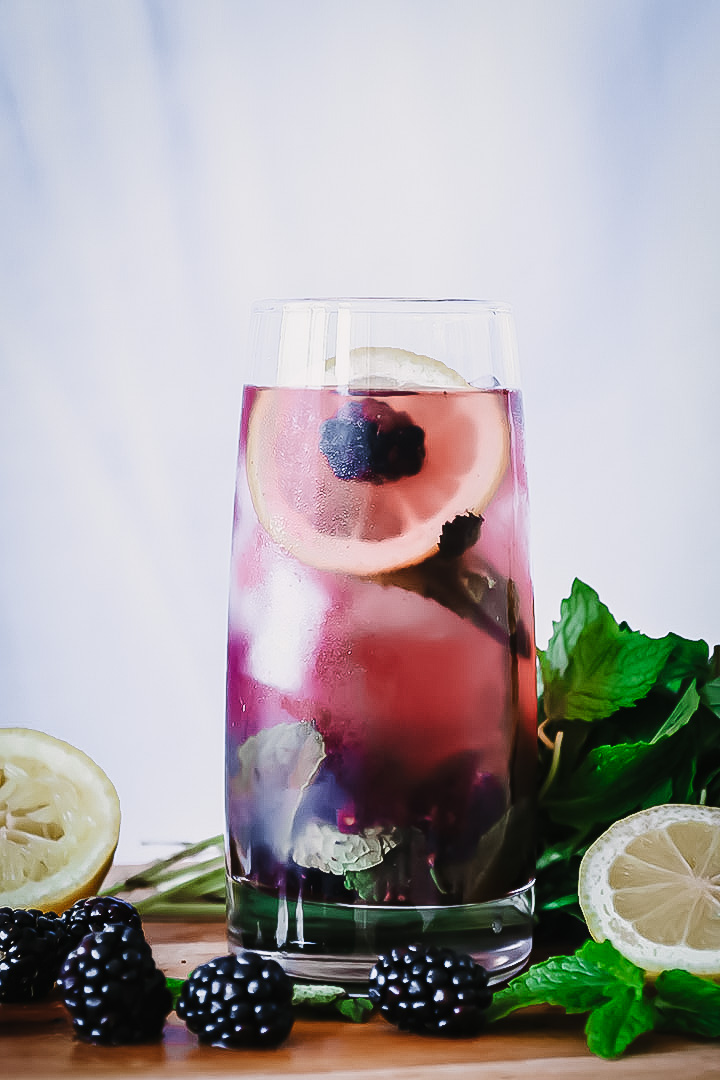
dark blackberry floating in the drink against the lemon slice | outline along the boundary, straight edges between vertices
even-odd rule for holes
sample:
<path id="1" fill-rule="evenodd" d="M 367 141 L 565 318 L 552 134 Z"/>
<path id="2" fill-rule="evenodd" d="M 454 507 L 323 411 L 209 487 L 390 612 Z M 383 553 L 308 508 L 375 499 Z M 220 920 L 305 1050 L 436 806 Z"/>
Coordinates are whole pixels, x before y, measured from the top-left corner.
<path id="1" fill-rule="evenodd" d="M 339 480 L 382 484 L 415 476 L 425 459 L 425 433 L 383 401 L 352 401 L 321 427 L 321 451 Z"/>

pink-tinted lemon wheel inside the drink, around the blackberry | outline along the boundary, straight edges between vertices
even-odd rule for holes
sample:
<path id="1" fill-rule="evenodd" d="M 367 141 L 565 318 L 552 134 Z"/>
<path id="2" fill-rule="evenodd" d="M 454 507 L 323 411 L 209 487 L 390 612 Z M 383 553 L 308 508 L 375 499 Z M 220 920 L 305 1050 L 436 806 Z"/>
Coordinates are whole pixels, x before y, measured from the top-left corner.
<path id="1" fill-rule="evenodd" d="M 260 524 L 287 552 L 370 577 L 422 562 L 447 522 L 483 513 L 510 462 L 508 405 L 504 391 L 476 390 L 427 356 L 364 349 L 350 357 L 342 384 L 355 400 L 371 394 L 422 428 L 420 471 L 386 483 L 339 478 L 320 449 L 321 427 L 349 396 L 279 388 L 257 391 L 247 478 Z"/>

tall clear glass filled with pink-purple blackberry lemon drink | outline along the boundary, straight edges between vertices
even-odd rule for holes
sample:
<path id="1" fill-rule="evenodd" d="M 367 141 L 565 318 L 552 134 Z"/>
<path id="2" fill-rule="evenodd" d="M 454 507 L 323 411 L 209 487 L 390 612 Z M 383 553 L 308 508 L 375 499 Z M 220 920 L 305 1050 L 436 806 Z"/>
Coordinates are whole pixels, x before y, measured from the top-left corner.
<path id="1" fill-rule="evenodd" d="M 296 977 L 530 950 L 536 694 L 513 316 L 254 309 L 228 645 L 231 947 Z"/>

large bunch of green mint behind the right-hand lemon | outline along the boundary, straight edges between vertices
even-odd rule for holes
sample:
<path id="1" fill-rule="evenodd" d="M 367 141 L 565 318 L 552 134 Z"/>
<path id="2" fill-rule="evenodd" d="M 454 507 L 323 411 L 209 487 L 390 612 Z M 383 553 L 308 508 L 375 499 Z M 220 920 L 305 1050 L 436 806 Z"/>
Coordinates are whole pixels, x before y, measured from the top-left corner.
<path id="1" fill-rule="evenodd" d="M 705 642 L 634 631 L 580 580 L 539 659 L 542 932 L 549 913 L 581 918 L 580 861 L 615 821 L 664 802 L 720 805 L 720 672 Z"/>

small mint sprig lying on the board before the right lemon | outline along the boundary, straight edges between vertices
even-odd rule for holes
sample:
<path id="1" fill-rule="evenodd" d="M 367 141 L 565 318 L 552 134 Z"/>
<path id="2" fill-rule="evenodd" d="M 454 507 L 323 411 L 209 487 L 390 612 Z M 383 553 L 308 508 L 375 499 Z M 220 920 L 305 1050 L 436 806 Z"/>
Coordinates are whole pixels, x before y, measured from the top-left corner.
<path id="1" fill-rule="evenodd" d="M 599 1057 L 619 1057 L 653 1030 L 720 1036 L 720 986 L 685 971 L 651 983 L 610 942 L 588 941 L 571 956 L 533 964 L 495 994 L 488 1021 L 540 1004 L 587 1013 L 587 1048 Z"/>

